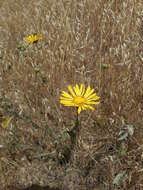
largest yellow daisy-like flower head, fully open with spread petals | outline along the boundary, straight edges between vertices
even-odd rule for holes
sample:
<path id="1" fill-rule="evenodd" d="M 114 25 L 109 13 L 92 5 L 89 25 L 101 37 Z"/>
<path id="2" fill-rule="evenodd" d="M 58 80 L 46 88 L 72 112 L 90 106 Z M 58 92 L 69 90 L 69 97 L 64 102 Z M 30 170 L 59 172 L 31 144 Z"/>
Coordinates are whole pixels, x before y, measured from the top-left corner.
<path id="1" fill-rule="evenodd" d="M 62 91 L 60 97 L 60 103 L 64 106 L 73 106 L 78 108 L 78 114 L 82 110 L 91 109 L 94 110 L 92 105 L 99 104 L 99 96 L 96 95 L 94 89 L 90 86 L 85 90 L 84 84 L 78 86 L 77 84 L 72 88 L 72 86 L 67 86 L 70 94 Z"/>

